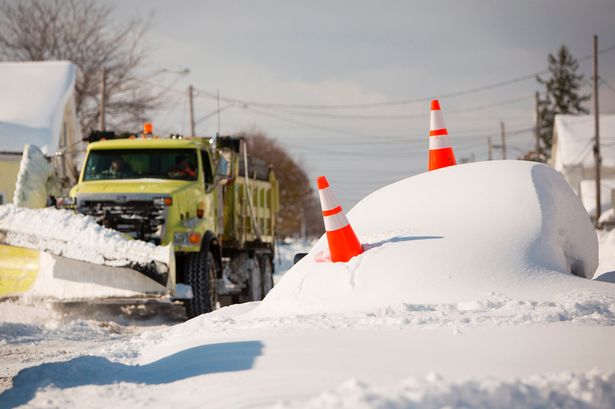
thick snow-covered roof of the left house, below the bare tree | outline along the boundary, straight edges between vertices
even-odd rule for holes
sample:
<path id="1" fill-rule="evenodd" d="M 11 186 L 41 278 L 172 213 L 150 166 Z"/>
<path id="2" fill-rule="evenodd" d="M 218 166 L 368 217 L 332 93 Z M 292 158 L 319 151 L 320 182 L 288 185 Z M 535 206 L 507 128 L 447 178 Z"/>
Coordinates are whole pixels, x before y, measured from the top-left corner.
<path id="1" fill-rule="evenodd" d="M 0 63 L 0 151 L 32 144 L 56 152 L 76 75 L 69 61 Z"/>

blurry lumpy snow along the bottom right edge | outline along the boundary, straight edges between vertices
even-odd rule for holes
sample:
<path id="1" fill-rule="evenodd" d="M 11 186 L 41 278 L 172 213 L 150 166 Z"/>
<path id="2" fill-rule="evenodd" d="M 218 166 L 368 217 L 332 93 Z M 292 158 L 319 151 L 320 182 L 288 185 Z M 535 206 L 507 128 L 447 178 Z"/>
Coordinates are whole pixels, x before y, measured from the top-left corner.
<path id="1" fill-rule="evenodd" d="M 610 408 L 615 404 L 614 373 L 534 375 L 513 381 L 468 379 L 447 382 L 435 373 L 409 378 L 395 387 L 377 388 L 350 379 L 307 401 L 284 402 L 294 408 Z"/>

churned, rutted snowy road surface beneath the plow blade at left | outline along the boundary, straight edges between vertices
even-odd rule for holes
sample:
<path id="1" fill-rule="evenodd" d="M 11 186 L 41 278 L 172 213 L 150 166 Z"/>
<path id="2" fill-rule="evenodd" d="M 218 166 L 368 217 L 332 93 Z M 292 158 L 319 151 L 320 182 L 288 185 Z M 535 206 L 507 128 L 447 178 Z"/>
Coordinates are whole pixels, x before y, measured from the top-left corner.
<path id="1" fill-rule="evenodd" d="M 23 368 L 98 353 L 144 331 L 177 324 L 182 314 L 181 307 L 171 306 L 126 310 L 0 302 L 0 393 Z"/>

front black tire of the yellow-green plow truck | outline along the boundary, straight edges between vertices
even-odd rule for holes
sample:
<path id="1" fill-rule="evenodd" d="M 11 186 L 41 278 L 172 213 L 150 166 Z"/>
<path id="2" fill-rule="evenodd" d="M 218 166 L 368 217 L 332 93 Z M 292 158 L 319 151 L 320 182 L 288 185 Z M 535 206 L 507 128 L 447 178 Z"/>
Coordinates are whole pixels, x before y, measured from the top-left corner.
<path id="1" fill-rule="evenodd" d="M 184 277 L 192 287 L 192 298 L 185 302 L 186 315 L 194 318 L 216 308 L 216 260 L 209 250 L 190 253 L 186 258 Z"/>

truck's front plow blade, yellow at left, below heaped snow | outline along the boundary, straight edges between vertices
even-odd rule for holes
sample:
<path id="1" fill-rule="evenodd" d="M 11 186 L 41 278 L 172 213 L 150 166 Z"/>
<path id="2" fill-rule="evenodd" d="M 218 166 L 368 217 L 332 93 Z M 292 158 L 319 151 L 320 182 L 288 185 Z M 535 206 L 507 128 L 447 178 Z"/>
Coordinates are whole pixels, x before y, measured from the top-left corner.
<path id="1" fill-rule="evenodd" d="M 164 261 L 106 252 L 94 263 L 65 257 L 62 249 L 66 244 L 55 238 L 0 229 L 0 297 L 73 301 L 173 295 L 172 246 L 162 248 L 168 252 Z"/>

